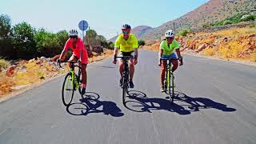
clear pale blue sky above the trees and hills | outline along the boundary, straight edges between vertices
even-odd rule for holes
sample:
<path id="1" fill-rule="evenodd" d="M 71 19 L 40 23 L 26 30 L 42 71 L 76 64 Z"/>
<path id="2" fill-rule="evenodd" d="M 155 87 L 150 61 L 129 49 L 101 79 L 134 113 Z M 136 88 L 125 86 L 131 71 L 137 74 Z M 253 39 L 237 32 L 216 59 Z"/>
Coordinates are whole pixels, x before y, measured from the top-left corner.
<path id="1" fill-rule="evenodd" d="M 14 26 L 28 22 L 34 28 L 57 33 L 77 29 L 86 20 L 90 29 L 110 39 L 122 24 L 158 27 L 196 9 L 209 0 L 0 0 L 0 14 Z"/>

